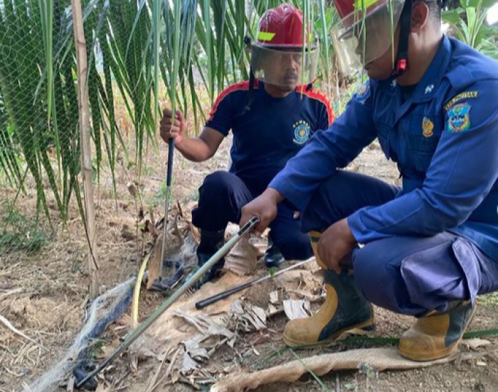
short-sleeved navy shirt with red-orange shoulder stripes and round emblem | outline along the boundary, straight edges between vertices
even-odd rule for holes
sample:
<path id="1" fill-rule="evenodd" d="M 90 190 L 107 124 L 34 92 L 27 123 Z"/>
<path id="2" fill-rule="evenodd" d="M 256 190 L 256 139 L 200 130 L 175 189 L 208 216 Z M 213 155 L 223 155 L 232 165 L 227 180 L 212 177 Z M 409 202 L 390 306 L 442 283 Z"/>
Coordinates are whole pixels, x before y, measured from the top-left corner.
<path id="1" fill-rule="evenodd" d="M 206 127 L 228 136 L 233 132 L 231 173 L 252 192 L 263 192 L 270 181 L 309 141 L 315 131 L 332 124 L 329 101 L 315 89 L 297 87 L 275 98 L 263 82 L 255 82 L 250 111 L 243 113 L 249 82 L 227 87 L 211 110 Z"/>

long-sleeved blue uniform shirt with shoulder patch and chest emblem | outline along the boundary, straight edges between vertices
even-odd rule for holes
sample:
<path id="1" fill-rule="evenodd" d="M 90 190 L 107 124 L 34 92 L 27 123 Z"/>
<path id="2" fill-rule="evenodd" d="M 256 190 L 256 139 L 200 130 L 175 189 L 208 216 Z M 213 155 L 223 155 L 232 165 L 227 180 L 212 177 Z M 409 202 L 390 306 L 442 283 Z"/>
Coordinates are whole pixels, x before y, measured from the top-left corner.
<path id="1" fill-rule="evenodd" d="M 378 137 L 403 190 L 348 218 L 357 241 L 455 232 L 498 261 L 498 62 L 443 38 L 413 94 L 394 80 L 364 85 L 270 183 L 300 210 L 337 168 Z"/>

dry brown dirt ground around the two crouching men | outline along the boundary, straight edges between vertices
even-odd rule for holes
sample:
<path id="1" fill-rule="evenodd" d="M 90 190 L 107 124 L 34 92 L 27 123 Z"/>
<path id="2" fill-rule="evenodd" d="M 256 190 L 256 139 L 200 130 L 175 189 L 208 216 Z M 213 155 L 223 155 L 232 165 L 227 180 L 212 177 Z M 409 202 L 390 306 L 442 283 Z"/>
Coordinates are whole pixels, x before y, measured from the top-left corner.
<path id="1" fill-rule="evenodd" d="M 223 142 L 215 158 L 206 163 L 190 163 L 179 154 L 175 158 L 173 198 L 188 205 L 196 200 L 197 188 L 203 177 L 214 170 L 228 166 L 230 140 Z M 118 199 L 115 200 L 108 173 L 102 173 L 102 183 L 97 195 L 97 232 L 99 243 L 97 254 L 100 264 L 100 291 L 104 293 L 132 276 L 137 275 L 139 263 L 147 238 L 142 239 L 136 229 L 140 204 L 144 211 L 150 209 L 155 215 L 161 214 L 164 189 L 165 148 L 161 146 L 159 156 L 151 153 L 144 164 L 142 181 L 142 201 L 135 199 L 127 190 L 130 181 L 127 168 L 117 169 Z M 386 162 L 378 145 L 366 148 L 364 153 L 349 166 L 349 170 L 375 175 L 381 180 L 398 183 L 396 168 Z M 14 191 L 1 189 L 9 200 Z M 27 216 L 36 205 L 34 193 L 21 195 L 18 209 Z M 154 204 L 156 205 L 154 207 Z M 52 205 L 55 209 L 55 206 Z M 60 359 L 80 331 L 88 303 L 86 274 L 85 237 L 82 231 L 78 210 L 73 209 L 67 227 L 63 228 L 55 219 L 55 230 L 51 241 L 41 250 L 28 254 L 23 251 L 0 256 L 0 315 L 4 316 L 18 330 L 34 339 L 38 344 L 20 337 L 3 324 L 0 324 L 0 392 L 20 391 L 23 385 L 31 383 L 43 371 Z M 145 245 L 144 245 L 145 244 Z M 260 273 L 264 273 L 260 268 Z M 272 283 L 252 288 L 246 298 L 255 303 L 264 303 L 273 290 Z M 157 293 L 142 293 L 141 317 L 164 300 Z M 497 328 L 498 307 L 495 297 L 480 300 L 475 321 L 471 330 Z M 372 337 L 399 337 L 413 319 L 378 309 L 377 329 Z M 344 349 L 372 347 L 372 344 L 337 344 L 325 349 L 301 350 L 293 354 L 285 350 L 281 333 L 285 326 L 285 316 L 270 320 L 264 332 L 243 335 L 234 349 L 223 347 L 214 354 L 209 366 L 235 365 L 239 369 L 258 370 L 304 358 L 314 354 L 342 351 Z M 111 326 L 102 339 L 110 342 L 122 336 L 116 326 Z M 300 383 L 274 383 L 258 388 L 259 392 L 270 391 L 498 391 L 498 339 L 484 337 L 491 342 L 487 347 L 475 350 L 472 359 L 457 361 L 443 366 L 415 371 L 384 371 L 378 374 L 361 374 L 359 371 L 340 372 L 321 377 L 313 376 Z M 382 344 L 381 344 L 382 345 Z M 243 352 L 245 347 L 254 351 Z M 241 354 L 242 353 L 242 354 Z M 137 373 L 125 371 L 127 365 L 119 360 L 115 363 L 124 377 L 119 388 L 114 391 L 145 391 L 150 372 L 157 369 L 157 363 L 139 363 Z M 320 385 L 320 383 L 323 385 Z M 65 391 L 65 387 L 58 389 Z M 191 391 L 190 386 L 177 383 L 164 386 L 162 391 Z M 110 390 L 106 390 L 110 391 Z"/>

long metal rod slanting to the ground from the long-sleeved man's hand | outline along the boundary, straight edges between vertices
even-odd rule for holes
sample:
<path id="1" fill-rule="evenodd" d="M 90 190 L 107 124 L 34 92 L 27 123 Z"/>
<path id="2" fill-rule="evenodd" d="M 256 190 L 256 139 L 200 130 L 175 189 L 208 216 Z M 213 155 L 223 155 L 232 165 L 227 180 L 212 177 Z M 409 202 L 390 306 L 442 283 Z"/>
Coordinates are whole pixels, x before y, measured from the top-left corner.
<path id="1" fill-rule="evenodd" d="M 124 342 L 120 344 L 117 349 L 115 349 L 112 354 L 107 356 L 106 359 L 100 363 L 97 368 L 92 371 L 90 374 L 88 374 L 85 379 L 80 381 L 76 386 L 79 388 L 83 384 L 85 384 L 88 380 L 90 380 L 93 376 L 96 376 L 102 369 L 105 369 L 105 367 L 110 364 L 110 362 L 115 359 L 118 355 L 120 355 L 122 352 L 124 352 L 125 349 L 129 347 L 130 344 L 132 344 L 141 334 L 143 334 L 165 311 L 168 309 L 180 296 L 185 293 L 185 291 L 194 285 L 196 281 L 201 278 L 201 276 L 204 275 L 208 271 L 209 268 L 214 266 L 214 264 L 219 261 L 222 257 L 226 256 L 229 251 L 235 246 L 238 241 L 244 236 L 244 234 L 247 234 L 252 230 L 256 224 L 260 222 L 259 217 L 252 217 L 246 224 L 244 224 L 243 227 L 240 228 L 240 230 L 232 236 L 231 239 L 227 241 L 227 243 L 219 250 L 216 252 L 216 254 L 213 255 L 201 268 L 199 268 L 196 273 L 194 273 L 191 278 L 189 278 L 188 281 L 186 281 L 181 287 L 176 290 L 176 292 L 171 295 L 171 297 L 168 298 L 161 306 L 159 306 L 152 315 L 147 317 L 147 319 L 142 322 L 137 328 L 135 328 L 127 337 L 124 339 Z"/>

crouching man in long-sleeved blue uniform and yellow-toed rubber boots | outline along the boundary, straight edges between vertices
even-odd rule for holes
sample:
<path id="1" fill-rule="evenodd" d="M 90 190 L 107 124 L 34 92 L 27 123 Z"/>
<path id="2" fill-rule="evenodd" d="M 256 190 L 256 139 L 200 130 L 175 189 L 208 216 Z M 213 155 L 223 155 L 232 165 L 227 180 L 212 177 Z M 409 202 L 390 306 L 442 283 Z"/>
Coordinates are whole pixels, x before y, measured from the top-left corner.
<path id="1" fill-rule="evenodd" d="M 373 327 L 374 303 L 417 317 L 401 355 L 442 358 L 457 350 L 476 296 L 498 290 L 498 62 L 442 33 L 438 1 L 334 3 L 339 64 L 362 65 L 369 80 L 240 223 L 258 214 L 261 232 L 290 200 L 326 270 L 326 303 L 287 324 L 287 344 Z M 400 189 L 339 170 L 376 138 Z"/>

